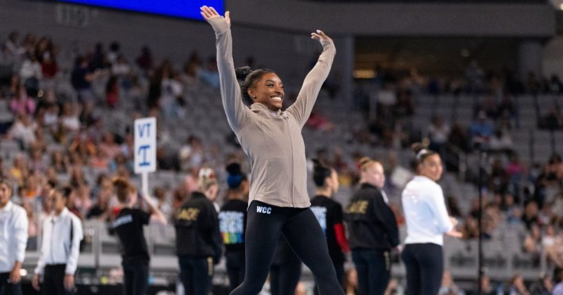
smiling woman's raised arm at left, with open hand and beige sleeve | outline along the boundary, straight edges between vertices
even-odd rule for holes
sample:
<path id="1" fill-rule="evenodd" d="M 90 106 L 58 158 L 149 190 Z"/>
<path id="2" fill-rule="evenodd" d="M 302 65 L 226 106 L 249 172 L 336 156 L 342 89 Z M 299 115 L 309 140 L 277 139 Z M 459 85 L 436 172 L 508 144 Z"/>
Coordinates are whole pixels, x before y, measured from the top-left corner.
<path id="1" fill-rule="evenodd" d="M 214 8 L 203 6 L 201 8 L 201 15 L 215 31 L 221 98 L 229 126 L 236 132 L 247 120 L 247 112 L 250 110 L 243 104 L 240 86 L 234 72 L 233 41 L 229 12 L 225 12 L 225 17 L 221 17 Z"/>

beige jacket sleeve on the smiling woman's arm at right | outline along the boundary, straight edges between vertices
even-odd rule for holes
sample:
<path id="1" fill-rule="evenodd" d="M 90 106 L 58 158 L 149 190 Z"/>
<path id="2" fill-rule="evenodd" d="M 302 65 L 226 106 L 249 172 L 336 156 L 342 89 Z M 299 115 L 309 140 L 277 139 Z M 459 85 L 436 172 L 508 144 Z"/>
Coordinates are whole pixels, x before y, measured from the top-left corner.
<path id="1" fill-rule="evenodd" d="M 323 86 L 327 76 L 329 76 L 335 55 L 336 47 L 334 47 L 334 43 L 323 40 L 323 53 L 320 54 L 316 65 L 305 77 L 295 103 L 286 110 L 294 116 L 301 127 L 305 125 L 309 115 L 311 115 L 320 87 Z"/>

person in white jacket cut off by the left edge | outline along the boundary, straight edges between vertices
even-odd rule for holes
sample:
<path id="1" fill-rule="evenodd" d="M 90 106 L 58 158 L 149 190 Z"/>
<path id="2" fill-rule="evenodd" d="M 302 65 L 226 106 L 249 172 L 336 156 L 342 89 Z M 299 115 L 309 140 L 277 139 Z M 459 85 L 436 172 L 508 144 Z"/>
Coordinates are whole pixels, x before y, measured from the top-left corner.
<path id="1" fill-rule="evenodd" d="M 28 215 L 12 201 L 12 184 L 0 178 L 0 294 L 21 295 L 21 263 L 28 243 Z"/>

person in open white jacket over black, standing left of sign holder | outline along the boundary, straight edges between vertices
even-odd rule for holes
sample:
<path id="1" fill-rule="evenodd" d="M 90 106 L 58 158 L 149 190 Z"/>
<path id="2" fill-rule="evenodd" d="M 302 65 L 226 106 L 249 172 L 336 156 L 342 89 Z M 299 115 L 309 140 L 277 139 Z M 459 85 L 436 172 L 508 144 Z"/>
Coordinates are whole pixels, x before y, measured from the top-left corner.
<path id="1" fill-rule="evenodd" d="M 41 252 L 32 280 L 34 289 L 41 289 L 46 295 L 73 294 L 75 289 L 74 272 L 83 231 L 80 219 L 66 208 L 71 192 L 71 188 L 65 187 L 49 194 L 54 210 L 43 221 Z"/>

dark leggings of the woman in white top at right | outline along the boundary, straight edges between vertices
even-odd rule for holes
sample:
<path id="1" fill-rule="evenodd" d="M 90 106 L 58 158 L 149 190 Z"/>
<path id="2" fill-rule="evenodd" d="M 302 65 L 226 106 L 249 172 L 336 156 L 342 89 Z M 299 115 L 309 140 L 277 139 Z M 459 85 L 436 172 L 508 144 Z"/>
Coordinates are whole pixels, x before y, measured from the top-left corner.
<path id="1" fill-rule="evenodd" d="M 434 243 L 407 244 L 401 256 L 407 268 L 408 294 L 437 295 L 444 272 L 442 246 Z"/>

